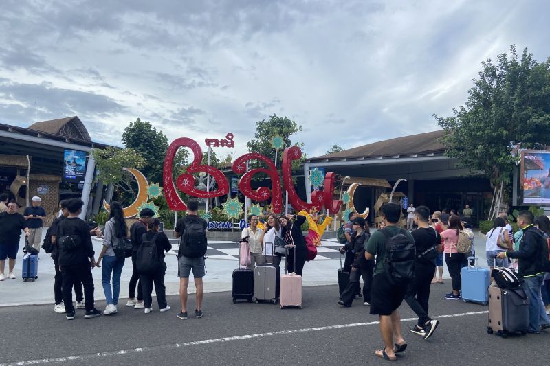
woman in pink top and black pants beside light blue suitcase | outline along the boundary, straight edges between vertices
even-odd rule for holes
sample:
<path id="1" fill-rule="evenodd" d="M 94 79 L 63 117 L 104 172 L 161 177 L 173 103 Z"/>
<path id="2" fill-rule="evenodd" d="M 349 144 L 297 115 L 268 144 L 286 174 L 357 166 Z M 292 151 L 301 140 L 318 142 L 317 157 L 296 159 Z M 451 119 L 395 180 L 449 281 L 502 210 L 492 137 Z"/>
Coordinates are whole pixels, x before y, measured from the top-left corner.
<path id="1" fill-rule="evenodd" d="M 443 240 L 442 248 L 445 253 L 445 263 L 451 275 L 452 293 L 445 295 L 445 299 L 459 300 L 462 277 L 460 271 L 464 262 L 464 254 L 456 251 L 456 244 L 459 242 L 459 231 L 462 230 L 460 217 L 453 215 L 449 219 L 449 229 L 441 233 Z"/>

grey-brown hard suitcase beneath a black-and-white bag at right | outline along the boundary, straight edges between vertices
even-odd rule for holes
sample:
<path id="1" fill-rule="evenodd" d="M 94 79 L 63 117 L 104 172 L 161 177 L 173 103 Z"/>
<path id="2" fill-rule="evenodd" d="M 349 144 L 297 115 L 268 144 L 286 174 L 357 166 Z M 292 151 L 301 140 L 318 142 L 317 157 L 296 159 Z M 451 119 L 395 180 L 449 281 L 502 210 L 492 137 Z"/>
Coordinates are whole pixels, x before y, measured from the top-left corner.
<path id="1" fill-rule="evenodd" d="M 503 290 L 489 286 L 489 325 L 487 333 L 506 337 L 527 333 L 529 329 L 529 298 L 521 287 Z"/>

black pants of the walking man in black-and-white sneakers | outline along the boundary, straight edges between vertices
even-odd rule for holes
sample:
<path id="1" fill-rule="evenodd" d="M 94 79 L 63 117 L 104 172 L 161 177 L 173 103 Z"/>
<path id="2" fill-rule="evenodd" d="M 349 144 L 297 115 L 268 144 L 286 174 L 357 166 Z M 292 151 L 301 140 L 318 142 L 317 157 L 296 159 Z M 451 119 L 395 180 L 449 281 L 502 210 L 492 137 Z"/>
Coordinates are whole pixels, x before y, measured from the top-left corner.
<path id="1" fill-rule="evenodd" d="M 408 285 L 405 301 L 418 316 L 418 325 L 424 327 L 428 321 L 428 301 L 430 300 L 430 286 L 434 277 L 434 264 L 417 264 L 415 279 Z"/>

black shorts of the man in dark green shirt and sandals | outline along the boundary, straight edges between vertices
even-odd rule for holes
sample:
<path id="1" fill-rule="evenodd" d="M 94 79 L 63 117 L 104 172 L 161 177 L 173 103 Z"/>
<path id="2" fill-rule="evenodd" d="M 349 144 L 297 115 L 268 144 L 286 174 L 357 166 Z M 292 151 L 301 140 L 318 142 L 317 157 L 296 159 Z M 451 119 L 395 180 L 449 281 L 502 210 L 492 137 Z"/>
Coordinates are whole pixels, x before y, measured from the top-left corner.
<path id="1" fill-rule="evenodd" d="M 392 284 L 387 272 L 375 275 L 371 287 L 371 315 L 391 315 L 403 302 L 407 288 Z"/>

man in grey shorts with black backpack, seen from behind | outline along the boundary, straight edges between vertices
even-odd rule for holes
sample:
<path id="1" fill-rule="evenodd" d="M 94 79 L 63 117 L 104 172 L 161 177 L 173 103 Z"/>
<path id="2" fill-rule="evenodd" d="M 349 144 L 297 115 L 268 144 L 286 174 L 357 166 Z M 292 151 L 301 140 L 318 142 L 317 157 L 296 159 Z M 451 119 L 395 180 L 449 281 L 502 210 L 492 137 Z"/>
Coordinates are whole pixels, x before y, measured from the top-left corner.
<path id="1" fill-rule="evenodd" d="M 179 319 L 188 319 L 187 314 L 187 288 L 189 286 L 189 275 L 193 272 L 195 279 L 195 297 L 197 307 L 195 317 L 203 317 L 202 301 L 204 286 L 202 277 L 206 275 L 204 269 L 204 254 L 208 247 L 206 238 L 206 221 L 198 216 L 199 201 L 197 198 L 190 198 L 187 202 L 187 216 L 178 220 L 174 229 L 174 236 L 181 238 L 177 252 L 179 269 L 179 300 L 181 301 L 181 312 L 177 313 Z"/>

